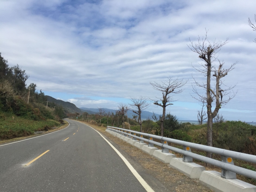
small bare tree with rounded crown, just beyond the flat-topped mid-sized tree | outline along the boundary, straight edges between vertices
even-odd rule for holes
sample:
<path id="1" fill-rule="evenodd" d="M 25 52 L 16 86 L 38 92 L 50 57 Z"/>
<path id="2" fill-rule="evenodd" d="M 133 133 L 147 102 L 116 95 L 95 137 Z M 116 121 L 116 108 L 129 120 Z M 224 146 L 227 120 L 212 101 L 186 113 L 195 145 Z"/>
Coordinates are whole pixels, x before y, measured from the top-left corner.
<path id="1" fill-rule="evenodd" d="M 146 98 L 142 97 L 142 96 L 138 99 L 131 98 L 131 101 L 133 102 L 132 104 L 130 104 L 130 106 L 132 106 L 132 112 L 134 112 L 138 115 L 138 123 L 140 125 L 140 132 L 142 132 L 141 113 L 143 110 L 148 108 L 150 104 L 147 103 Z"/>

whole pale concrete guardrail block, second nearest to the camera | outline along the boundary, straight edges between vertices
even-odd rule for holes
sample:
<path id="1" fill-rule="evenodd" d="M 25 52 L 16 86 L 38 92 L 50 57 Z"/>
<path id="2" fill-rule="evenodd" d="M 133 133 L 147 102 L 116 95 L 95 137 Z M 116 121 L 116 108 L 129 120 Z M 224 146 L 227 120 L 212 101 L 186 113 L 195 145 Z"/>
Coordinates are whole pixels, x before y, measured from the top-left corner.
<path id="1" fill-rule="evenodd" d="M 200 178 L 205 167 L 193 162 L 183 162 L 182 158 L 172 158 L 170 167 L 174 168 L 190 178 Z"/>

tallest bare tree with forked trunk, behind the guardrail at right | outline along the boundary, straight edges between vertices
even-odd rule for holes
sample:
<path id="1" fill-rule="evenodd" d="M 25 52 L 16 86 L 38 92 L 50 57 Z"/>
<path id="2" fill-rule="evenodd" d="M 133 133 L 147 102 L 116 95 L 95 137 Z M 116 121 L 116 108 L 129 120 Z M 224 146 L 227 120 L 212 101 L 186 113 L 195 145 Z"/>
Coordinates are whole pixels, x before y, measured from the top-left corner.
<path id="1" fill-rule="evenodd" d="M 233 66 L 236 64 L 232 64 L 228 69 L 223 69 L 223 62 L 220 62 L 218 60 L 218 56 L 215 56 L 222 46 L 224 46 L 227 43 L 228 39 L 226 41 L 214 41 L 213 43 L 210 43 L 207 40 L 207 31 L 205 34 L 205 38 L 203 37 L 200 39 L 198 37 L 198 42 L 193 43 L 192 41 L 188 47 L 195 53 L 199 54 L 199 58 L 204 62 L 201 65 L 202 68 L 195 68 L 197 71 L 202 73 L 204 76 L 207 77 L 206 82 L 198 83 L 194 79 L 194 85 L 193 85 L 193 92 L 197 94 L 198 98 L 196 98 L 198 101 L 206 102 L 207 107 L 207 145 L 213 146 L 213 137 L 212 137 L 212 125 L 213 125 L 213 118 L 217 115 L 219 109 L 228 103 L 234 96 L 233 94 L 230 94 L 230 91 L 234 86 L 225 86 L 223 84 L 223 81 L 221 78 L 228 75 L 228 72 L 233 70 Z M 218 60 L 218 68 L 215 68 L 214 62 Z M 211 76 L 211 73 L 213 72 L 213 77 Z M 214 80 L 211 84 L 211 79 Z M 226 87 L 226 89 L 222 89 L 220 87 Z M 206 91 L 206 94 L 200 94 L 196 87 L 201 87 Z M 225 100 L 223 97 L 227 97 Z M 215 101 L 216 106 L 214 110 L 212 111 L 212 102 Z M 207 152 L 207 157 L 212 158 L 212 153 Z"/>

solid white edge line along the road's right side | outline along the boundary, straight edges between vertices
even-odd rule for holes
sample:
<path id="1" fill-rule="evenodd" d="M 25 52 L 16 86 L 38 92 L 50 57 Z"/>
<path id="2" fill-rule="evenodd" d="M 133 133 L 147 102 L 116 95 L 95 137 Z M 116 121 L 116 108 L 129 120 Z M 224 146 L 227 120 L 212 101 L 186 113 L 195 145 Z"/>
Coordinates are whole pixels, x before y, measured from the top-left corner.
<path id="1" fill-rule="evenodd" d="M 79 122 L 79 123 L 82 123 L 82 122 Z M 82 123 L 82 124 L 85 124 L 85 123 Z M 85 124 L 85 125 L 92 128 L 91 126 L 89 126 L 87 124 Z M 98 132 L 96 129 L 94 129 L 94 128 L 92 128 L 92 129 L 95 130 L 98 134 L 100 134 L 100 132 Z M 129 163 L 129 161 L 105 137 L 103 137 L 101 134 L 100 134 L 100 136 L 103 139 L 105 139 L 105 141 L 114 149 L 114 151 L 116 151 L 116 153 L 121 157 L 121 159 L 124 161 L 124 163 L 130 169 L 130 171 L 133 173 L 133 175 L 137 178 L 137 180 L 140 182 L 140 184 L 145 188 L 145 190 L 147 192 L 154 192 L 154 190 L 148 185 L 148 183 L 146 183 L 146 181 L 133 168 L 133 166 Z"/>

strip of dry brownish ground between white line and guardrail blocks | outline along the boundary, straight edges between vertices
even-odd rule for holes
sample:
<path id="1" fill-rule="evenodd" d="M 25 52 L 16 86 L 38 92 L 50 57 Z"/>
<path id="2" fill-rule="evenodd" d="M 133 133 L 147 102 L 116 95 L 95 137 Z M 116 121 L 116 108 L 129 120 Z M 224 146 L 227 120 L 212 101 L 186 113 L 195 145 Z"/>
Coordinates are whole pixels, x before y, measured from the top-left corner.
<path id="1" fill-rule="evenodd" d="M 84 123 L 84 122 L 82 122 Z M 104 127 L 98 127 L 91 124 L 89 126 L 95 128 L 112 142 L 116 143 L 123 151 L 125 151 L 134 161 L 144 167 L 148 174 L 153 175 L 161 182 L 170 192 L 213 192 L 208 187 L 202 185 L 198 179 L 188 178 L 181 172 L 169 167 L 169 164 L 164 164 L 135 146 L 124 142 L 123 140 L 107 133 Z"/>

